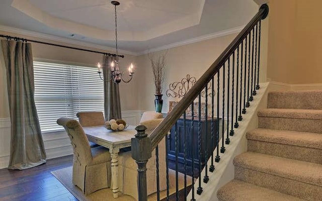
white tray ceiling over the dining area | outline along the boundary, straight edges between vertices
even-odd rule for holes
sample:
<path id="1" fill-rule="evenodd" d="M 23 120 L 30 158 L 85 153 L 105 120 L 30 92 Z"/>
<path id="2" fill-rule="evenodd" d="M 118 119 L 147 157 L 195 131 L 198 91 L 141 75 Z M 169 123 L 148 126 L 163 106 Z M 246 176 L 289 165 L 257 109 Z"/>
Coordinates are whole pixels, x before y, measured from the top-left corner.
<path id="1" fill-rule="evenodd" d="M 115 47 L 110 0 L 0 0 L 0 30 L 74 44 Z M 142 54 L 240 31 L 253 0 L 119 0 L 119 49 Z"/>

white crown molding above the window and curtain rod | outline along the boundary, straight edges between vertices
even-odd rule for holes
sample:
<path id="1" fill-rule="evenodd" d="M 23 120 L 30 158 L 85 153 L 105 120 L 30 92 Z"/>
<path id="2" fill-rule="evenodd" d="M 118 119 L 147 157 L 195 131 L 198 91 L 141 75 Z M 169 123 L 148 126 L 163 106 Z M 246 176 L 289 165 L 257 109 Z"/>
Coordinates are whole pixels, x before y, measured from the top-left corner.
<path id="1" fill-rule="evenodd" d="M 23 29 L 14 28 L 14 27 L 8 27 L 8 26 L 0 25 L 0 31 L 20 34 L 20 35 L 24 35 L 24 36 L 36 37 L 36 38 L 41 38 L 41 39 L 45 39 L 45 40 L 68 43 L 68 44 L 72 44 L 72 45 L 80 45 L 80 46 L 100 49 L 100 50 L 104 50 L 104 51 L 115 52 L 115 48 L 111 48 L 111 47 L 107 47 L 107 46 L 103 46 L 103 45 L 95 45 L 93 43 L 82 42 L 82 41 L 73 40 L 73 39 L 67 39 L 67 38 L 62 38 L 62 37 L 52 36 L 52 35 L 49 35 L 49 34 L 42 34 L 42 33 L 33 32 L 33 31 L 27 31 L 27 30 L 23 30 Z M 135 53 L 135 52 L 126 51 L 126 50 L 122 50 L 122 49 L 119 49 L 119 53 L 121 53 L 121 54 L 129 54 L 129 55 L 134 55 L 134 56 L 137 55 L 137 53 Z"/>

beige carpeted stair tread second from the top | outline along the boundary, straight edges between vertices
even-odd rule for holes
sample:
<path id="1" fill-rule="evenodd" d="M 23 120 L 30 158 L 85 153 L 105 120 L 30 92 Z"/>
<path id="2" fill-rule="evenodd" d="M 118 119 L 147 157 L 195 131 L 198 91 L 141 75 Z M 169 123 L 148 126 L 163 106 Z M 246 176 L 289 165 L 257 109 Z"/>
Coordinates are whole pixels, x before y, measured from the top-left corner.
<path id="1" fill-rule="evenodd" d="M 270 108 L 258 111 L 257 115 L 258 117 L 322 120 L 322 110 Z"/>

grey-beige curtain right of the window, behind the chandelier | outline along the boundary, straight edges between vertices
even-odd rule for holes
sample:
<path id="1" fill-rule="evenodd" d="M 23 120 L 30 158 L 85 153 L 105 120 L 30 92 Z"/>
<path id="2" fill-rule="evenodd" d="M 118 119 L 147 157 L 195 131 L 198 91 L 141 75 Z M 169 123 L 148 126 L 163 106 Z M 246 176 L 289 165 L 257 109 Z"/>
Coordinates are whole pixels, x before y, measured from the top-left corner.
<path id="1" fill-rule="evenodd" d="M 103 75 L 108 80 L 111 77 L 112 56 L 103 56 Z M 122 119 L 119 85 L 113 80 L 104 81 L 104 112 L 105 121 L 110 119 Z"/>

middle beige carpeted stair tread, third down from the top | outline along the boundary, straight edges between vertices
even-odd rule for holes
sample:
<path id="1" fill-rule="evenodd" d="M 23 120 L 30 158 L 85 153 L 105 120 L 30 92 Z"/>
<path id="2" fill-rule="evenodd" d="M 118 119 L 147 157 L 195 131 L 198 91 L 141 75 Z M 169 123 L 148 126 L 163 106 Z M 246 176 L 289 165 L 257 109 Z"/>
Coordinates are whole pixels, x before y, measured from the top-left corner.
<path id="1" fill-rule="evenodd" d="M 246 138 L 262 142 L 322 149 L 322 134 L 319 133 L 258 128 L 248 132 Z"/>

